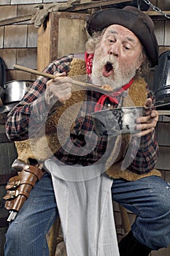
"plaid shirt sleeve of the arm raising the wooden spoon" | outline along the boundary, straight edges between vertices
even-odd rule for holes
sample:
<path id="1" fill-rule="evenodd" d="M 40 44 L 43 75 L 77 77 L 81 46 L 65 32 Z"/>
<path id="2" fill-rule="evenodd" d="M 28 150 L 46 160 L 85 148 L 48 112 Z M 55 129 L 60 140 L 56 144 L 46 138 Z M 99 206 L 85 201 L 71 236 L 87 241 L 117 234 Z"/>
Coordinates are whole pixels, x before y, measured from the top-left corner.
<path id="1" fill-rule="evenodd" d="M 54 72 L 68 72 L 69 64 L 73 55 L 63 56 L 61 59 L 49 64 L 44 72 L 53 74 Z M 45 107 L 43 92 L 49 78 L 39 76 L 31 86 L 31 89 L 23 97 L 22 101 L 12 109 L 7 116 L 6 132 L 10 140 L 26 140 L 31 134 L 35 134 L 40 129 L 41 122 L 45 121 L 48 112 Z M 31 122 L 30 122 L 31 118 Z M 33 124 L 33 125 L 31 125 Z"/>

